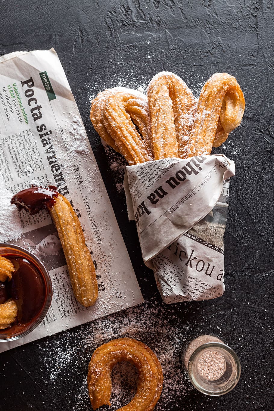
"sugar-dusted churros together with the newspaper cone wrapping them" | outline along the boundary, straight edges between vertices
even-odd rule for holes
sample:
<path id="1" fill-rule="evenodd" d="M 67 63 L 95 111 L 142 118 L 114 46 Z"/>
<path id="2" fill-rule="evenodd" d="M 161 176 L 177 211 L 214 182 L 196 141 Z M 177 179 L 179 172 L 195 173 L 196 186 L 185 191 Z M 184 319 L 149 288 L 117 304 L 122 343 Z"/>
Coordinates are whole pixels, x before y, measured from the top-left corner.
<path id="1" fill-rule="evenodd" d="M 235 77 L 216 73 L 198 101 L 170 72 L 153 77 L 147 96 L 112 88 L 92 101 L 101 138 L 126 158 L 124 189 L 143 260 L 167 303 L 206 300 L 224 291 L 223 233 L 235 164 L 211 155 L 244 113 Z"/>

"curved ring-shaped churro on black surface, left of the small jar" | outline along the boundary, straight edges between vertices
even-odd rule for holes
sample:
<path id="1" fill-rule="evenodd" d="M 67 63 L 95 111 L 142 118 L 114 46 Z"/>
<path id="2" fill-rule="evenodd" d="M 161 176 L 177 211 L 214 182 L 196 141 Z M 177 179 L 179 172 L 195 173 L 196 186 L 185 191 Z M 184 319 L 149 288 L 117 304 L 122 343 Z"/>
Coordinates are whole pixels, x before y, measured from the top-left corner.
<path id="1" fill-rule="evenodd" d="M 134 364 L 139 377 L 134 398 L 119 411 L 153 410 L 163 388 L 161 364 L 149 347 L 131 338 L 114 339 L 94 351 L 87 375 L 93 409 L 104 404 L 111 405 L 111 371 L 120 361 Z"/>

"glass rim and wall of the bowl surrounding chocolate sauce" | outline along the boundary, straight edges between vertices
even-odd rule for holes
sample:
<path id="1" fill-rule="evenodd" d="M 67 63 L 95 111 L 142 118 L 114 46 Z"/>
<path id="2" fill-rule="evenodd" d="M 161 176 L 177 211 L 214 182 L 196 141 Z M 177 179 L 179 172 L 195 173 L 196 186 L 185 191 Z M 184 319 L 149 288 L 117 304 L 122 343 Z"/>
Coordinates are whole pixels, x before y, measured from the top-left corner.
<path id="1" fill-rule="evenodd" d="M 20 257 L 22 259 L 28 260 L 32 266 L 35 267 L 36 271 L 38 272 L 41 278 L 41 284 L 43 288 L 43 297 L 41 306 L 35 316 L 24 324 L 16 324 L 13 323 L 10 328 L 5 328 L 4 330 L 0 330 L 0 343 L 1 342 L 8 342 L 14 341 L 18 338 L 24 337 L 25 335 L 29 334 L 33 331 L 39 324 L 43 321 L 46 313 L 48 312 L 49 307 L 51 306 L 51 299 L 52 299 L 52 284 L 51 284 L 51 277 L 46 270 L 44 264 L 35 256 L 32 252 L 23 247 L 19 247 L 18 245 L 0 243 L 0 256 L 9 258 L 16 258 Z"/>

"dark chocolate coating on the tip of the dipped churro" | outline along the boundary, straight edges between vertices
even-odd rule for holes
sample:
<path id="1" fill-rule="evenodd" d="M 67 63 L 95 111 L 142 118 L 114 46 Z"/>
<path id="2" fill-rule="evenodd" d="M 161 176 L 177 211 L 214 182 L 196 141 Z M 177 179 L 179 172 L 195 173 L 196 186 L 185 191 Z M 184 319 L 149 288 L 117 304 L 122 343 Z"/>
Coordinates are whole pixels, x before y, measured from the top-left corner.
<path id="1" fill-rule="evenodd" d="M 58 192 L 55 186 L 49 188 L 30 187 L 15 194 L 11 203 L 21 210 L 22 208 L 30 214 L 36 214 L 44 208 L 51 208 L 55 203 Z"/>

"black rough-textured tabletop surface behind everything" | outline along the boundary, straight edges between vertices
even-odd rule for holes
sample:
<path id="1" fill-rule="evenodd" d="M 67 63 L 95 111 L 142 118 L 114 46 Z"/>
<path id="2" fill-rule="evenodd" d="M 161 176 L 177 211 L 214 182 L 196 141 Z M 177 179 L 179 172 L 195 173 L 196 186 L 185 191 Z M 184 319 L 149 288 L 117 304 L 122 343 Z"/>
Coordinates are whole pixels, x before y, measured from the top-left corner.
<path id="1" fill-rule="evenodd" d="M 89 120 L 90 96 L 118 85 L 115 79 L 124 79 L 129 86 L 147 84 L 161 70 L 175 72 L 194 89 L 214 72 L 237 78 L 246 97 L 244 119 L 231 134 L 232 142 L 219 150 L 235 161 L 237 171 L 230 183 L 225 235 L 226 291 L 219 299 L 194 302 L 194 313 L 199 306 L 195 316 L 185 304 L 172 309 L 182 323 L 203 323 L 203 331 L 220 332 L 238 353 L 242 376 L 236 390 L 226 396 L 204 397 L 190 390 L 172 410 L 182 410 L 184 403 L 189 410 L 274 409 L 273 1 L 0 0 L 0 18 L 0 55 L 51 47 L 57 51 L 144 298 L 159 298 L 159 305 L 152 272 L 141 266 L 124 196 L 115 188 Z M 64 342 L 67 338 L 64 332 Z M 69 339 L 73 344 L 74 330 Z M 74 371 L 64 369 L 63 379 L 51 385 L 50 370 L 41 371 L 38 344 L 41 350 L 46 339 L 0 355 L 0 410 L 70 411 L 75 406 L 77 373 L 86 372 L 89 358 L 79 355 Z M 160 403 L 156 409 L 163 409 Z"/>

